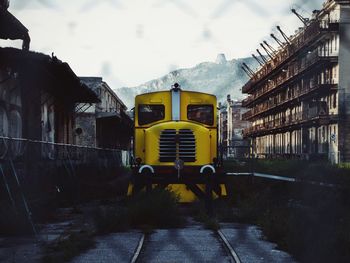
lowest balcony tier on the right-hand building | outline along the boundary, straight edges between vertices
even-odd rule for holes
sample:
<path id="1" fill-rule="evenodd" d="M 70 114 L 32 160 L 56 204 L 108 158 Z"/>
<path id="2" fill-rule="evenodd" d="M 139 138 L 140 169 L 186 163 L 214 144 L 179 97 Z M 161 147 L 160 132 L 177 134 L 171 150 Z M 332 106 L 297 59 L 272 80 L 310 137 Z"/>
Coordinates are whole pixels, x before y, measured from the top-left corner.
<path id="1" fill-rule="evenodd" d="M 276 118 L 273 121 L 265 122 L 263 124 L 252 126 L 243 131 L 244 137 L 254 135 L 264 135 L 281 130 L 289 130 L 295 125 L 307 125 L 315 123 L 318 125 L 327 124 L 329 120 L 335 115 L 329 115 L 328 106 L 326 102 L 319 101 L 311 103 L 304 112 L 298 112 L 286 117 Z"/>

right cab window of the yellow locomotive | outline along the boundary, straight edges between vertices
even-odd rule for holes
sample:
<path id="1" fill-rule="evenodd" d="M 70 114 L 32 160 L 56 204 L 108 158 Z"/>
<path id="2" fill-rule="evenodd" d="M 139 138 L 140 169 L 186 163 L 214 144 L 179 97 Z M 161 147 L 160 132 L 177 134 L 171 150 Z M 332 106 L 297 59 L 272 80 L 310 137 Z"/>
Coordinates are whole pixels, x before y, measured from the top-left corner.
<path id="1" fill-rule="evenodd" d="M 213 105 L 188 105 L 187 119 L 206 125 L 213 125 L 214 107 Z"/>

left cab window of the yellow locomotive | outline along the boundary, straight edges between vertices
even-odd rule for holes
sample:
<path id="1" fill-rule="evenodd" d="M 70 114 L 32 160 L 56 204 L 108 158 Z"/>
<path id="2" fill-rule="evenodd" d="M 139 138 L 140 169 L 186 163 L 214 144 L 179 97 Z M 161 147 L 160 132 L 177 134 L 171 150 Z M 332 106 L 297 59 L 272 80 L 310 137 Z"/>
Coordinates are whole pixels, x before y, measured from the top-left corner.
<path id="1" fill-rule="evenodd" d="M 138 107 L 139 125 L 163 120 L 165 117 L 164 105 L 141 104 Z"/>

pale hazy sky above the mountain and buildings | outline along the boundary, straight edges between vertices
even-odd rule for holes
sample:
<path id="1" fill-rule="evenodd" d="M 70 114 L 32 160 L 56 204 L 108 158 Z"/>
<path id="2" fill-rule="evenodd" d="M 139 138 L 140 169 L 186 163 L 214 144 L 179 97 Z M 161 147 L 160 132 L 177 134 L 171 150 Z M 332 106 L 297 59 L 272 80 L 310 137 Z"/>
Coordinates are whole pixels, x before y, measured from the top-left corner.
<path id="1" fill-rule="evenodd" d="M 31 50 L 67 61 L 77 75 L 102 76 L 115 89 L 176 68 L 250 56 L 281 25 L 292 34 L 322 0 L 11 0 Z M 20 47 L 19 41 L 0 41 Z"/>

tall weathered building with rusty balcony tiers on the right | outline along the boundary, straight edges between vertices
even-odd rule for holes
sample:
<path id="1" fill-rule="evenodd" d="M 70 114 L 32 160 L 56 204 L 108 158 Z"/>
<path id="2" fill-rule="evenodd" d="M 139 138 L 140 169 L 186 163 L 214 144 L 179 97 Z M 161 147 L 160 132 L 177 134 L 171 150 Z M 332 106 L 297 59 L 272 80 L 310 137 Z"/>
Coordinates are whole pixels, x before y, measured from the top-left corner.
<path id="1" fill-rule="evenodd" d="M 242 88 L 259 157 L 350 161 L 350 1 L 328 0 Z"/>

